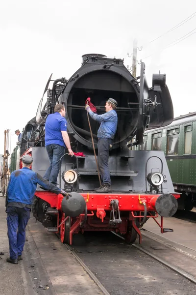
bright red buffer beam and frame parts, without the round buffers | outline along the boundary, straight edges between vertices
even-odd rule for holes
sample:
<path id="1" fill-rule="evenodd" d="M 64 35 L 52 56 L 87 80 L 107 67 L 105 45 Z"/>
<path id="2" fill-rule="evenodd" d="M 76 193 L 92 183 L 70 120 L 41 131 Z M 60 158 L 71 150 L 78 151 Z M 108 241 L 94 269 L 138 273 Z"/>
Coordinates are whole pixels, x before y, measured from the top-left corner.
<path id="1" fill-rule="evenodd" d="M 62 199 L 64 198 L 61 194 L 54 194 L 48 191 L 36 191 L 35 195 L 42 200 L 48 202 L 51 207 L 56 208 L 59 213 L 61 214 L 62 209 L 61 209 L 61 202 Z M 139 242 L 141 243 L 142 241 L 142 236 L 141 232 L 138 229 L 138 227 L 135 225 L 135 218 L 141 218 L 143 217 L 141 215 L 141 212 L 144 212 L 144 206 L 142 203 L 146 203 L 147 205 L 147 210 L 148 211 L 155 211 L 155 203 L 157 198 L 161 194 L 114 194 L 114 193 L 107 193 L 107 194 L 97 194 L 97 193 L 81 193 L 81 195 L 84 197 L 86 204 L 87 204 L 87 210 L 90 211 L 90 213 L 87 214 L 87 222 L 86 224 L 80 228 L 80 223 L 84 219 L 84 214 L 81 214 L 74 220 L 72 219 L 72 225 L 70 229 L 70 244 L 72 244 L 73 240 L 73 234 L 78 233 L 81 231 L 82 233 L 84 231 L 115 231 L 116 233 L 121 233 L 125 234 L 126 229 L 127 229 L 127 220 L 129 220 L 135 229 L 135 231 L 139 235 Z M 179 194 L 172 194 L 176 199 L 180 197 Z M 111 226 L 109 225 L 109 217 L 106 215 L 107 211 L 111 211 L 112 207 L 110 205 L 110 202 L 114 199 L 119 200 L 119 209 L 120 212 L 126 212 L 125 215 L 122 217 L 122 223 L 117 224 L 116 226 Z M 94 212 L 97 211 L 97 214 Z M 140 215 L 134 215 L 134 211 L 139 211 Z M 59 213 L 58 213 L 58 223 L 57 223 L 57 228 L 59 230 L 60 226 L 62 225 L 59 224 Z M 95 219 L 92 216 L 96 216 L 100 218 L 101 220 Z M 161 217 L 161 224 L 157 222 L 155 219 L 158 216 L 156 214 L 155 216 L 153 215 L 148 215 L 148 218 L 153 218 L 156 223 L 159 225 L 161 228 L 161 233 L 164 233 L 163 229 L 163 217 Z M 57 231 L 58 232 L 58 231 Z"/>

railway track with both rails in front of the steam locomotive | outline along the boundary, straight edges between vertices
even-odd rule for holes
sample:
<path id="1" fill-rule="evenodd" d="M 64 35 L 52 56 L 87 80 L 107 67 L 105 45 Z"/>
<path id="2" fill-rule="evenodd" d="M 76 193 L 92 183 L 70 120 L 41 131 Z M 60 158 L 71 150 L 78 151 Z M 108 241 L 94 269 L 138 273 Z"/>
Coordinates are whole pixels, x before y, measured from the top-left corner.
<path id="1" fill-rule="evenodd" d="M 176 257 L 173 251 L 177 256 L 182 256 L 182 262 L 191 259 L 184 253 L 162 245 L 160 241 L 147 237 L 146 234 L 143 234 L 144 245 L 142 246 L 136 243 L 127 245 L 123 240 L 121 242 L 122 236 L 116 234 L 111 236 L 107 234 L 107 237 L 100 241 L 99 234 L 98 238 L 95 238 L 93 234 L 92 239 L 88 235 L 82 245 L 65 244 L 64 246 L 73 254 L 104 295 L 151 294 L 152 287 L 153 290 L 157 289 L 154 294 L 195 295 L 196 277 L 169 262 L 169 258 Z M 116 236 L 117 239 L 112 236 Z M 154 249 L 151 248 L 153 251 L 150 251 L 152 244 Z M 162 250 L 162 257 L 154 253 L 157 251 L 155 249 L 158 249 L 159 254 Z M 179 257 L 176 261 L 179 261 Z M 193 266 L 195 263 L 196 261 L 192 259 Z M 104 269 L 108 269 L 108 273 Z M 123 278 L 125 278 L 125 284 Z M 178 285 L 177 289 L 176 285 Z M 167 293 L 165 293 L 166 289 Z"/>

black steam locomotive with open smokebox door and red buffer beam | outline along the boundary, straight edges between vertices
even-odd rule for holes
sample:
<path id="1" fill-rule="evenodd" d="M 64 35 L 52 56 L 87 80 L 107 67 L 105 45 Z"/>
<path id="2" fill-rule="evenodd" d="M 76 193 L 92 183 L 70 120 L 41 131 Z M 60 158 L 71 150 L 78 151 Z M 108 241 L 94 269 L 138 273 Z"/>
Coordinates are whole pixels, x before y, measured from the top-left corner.
<path id="1" fill-rule="evenodd" d="M 20 157 L 32 155 L 32 170 L 45 174 L 49 167 L 45 121 L 57 103 L 66 109 L 72 150 L 84 156 L 71 157 L 66 153 L 61 158 L 58 183 L 71 194 L 69 200 L 37 187 L 32 206 L 36 220 L 48 231 L 60 233 L 61 241 L 69 244 L 73 242 L 73 234 L 86 231 L 113 231 L 130 243 L 138 235 L 141 243 L 140 229 L 149 218 L 157 222 L 161 233 L 172 231 L 163 227 L 163 217 L 176 212 L 176 199 L 180 195 L 174 192 L 164 153 L 133 149 L 134 145 L 143 144 L 146 128 L 167 126 L 173 120 L 166 75 L 153 74 L 152 87 L 148 88 L 144 62 L 140 77 L 134 78 L 123 59 L 86 54 L 82 56 L 81 67 L 69 80 L 51 77 L 36 117 L 25 126 Z M 109 97 L 118 102 L 118 127 L 109 157 L 113 191 L 108 193 L 95 192 L 99 182 L 92 137 L 97 152 L 99 124 L 90 118 L 91 137 L 85 110 L 87 97 L 98 114 L 104 113 Z M 156 220 L 158 214 L 161 223 Z"/>

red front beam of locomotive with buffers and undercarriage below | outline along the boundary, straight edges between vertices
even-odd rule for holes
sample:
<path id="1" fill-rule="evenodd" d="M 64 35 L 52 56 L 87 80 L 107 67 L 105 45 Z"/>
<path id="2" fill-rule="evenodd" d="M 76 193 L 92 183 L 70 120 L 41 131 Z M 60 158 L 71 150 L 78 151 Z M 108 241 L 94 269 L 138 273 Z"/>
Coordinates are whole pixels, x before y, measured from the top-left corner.
<path id="1" fill-rule="evenodd" d="M 175 213 L 176 199 L 179 198 L 179 194 L 169 193 L 73 192 L 67 200 L 62 194 L 56 195 L 48 191 L 36 191 L 35 196 L 35 204 L 32 207 L 34 216 L 49 231 L 57 233 L 60 229 L 61 241 L 69 244 L 72 244 L 73 235 L 79 232 L 83 234 L 85 231 L 114 231 L 124 235 L 129 243 L 133 243 L 138 235 L 141 243 L 139 223 L 150 217 L 160 227 L 161 233 L 171 232 L 171 229 L 163 227 L 163 217 L 170 217 Z M 75 208 L 80 207 L 80 201 L 84 203 L 85 208 L 74 213 Z M 160 223 L 156 220 L 158 214 L 161 216 Z M 73 216 L 69 218 L 69 226 L 66 226 L 66 218 L 70 215 Z"/>

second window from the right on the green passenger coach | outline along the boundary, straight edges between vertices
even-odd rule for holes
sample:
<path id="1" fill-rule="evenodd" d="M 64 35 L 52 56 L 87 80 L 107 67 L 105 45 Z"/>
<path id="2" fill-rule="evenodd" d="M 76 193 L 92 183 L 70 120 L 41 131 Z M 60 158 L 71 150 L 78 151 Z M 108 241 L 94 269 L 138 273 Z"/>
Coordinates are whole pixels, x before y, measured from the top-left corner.
<path id="1" fill-rule="evenodd" d="M 167 155 L 178 155 L 179 128 L 168 130 L 167 133 Z"/>

